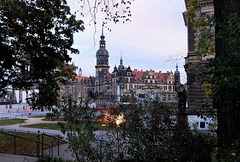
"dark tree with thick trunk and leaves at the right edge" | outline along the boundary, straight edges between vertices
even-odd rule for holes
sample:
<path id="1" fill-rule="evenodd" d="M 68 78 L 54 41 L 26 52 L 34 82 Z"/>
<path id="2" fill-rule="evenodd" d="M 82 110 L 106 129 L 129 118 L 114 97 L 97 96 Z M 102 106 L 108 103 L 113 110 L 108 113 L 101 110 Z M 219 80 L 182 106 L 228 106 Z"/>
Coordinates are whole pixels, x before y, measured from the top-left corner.
<path id="1" fill-rule="evenodd" d="M 240 138 L 240 1 L 214 0 L 216 57 L 213 84 L 218 113 L 218 145 L 230 149 Z"/>

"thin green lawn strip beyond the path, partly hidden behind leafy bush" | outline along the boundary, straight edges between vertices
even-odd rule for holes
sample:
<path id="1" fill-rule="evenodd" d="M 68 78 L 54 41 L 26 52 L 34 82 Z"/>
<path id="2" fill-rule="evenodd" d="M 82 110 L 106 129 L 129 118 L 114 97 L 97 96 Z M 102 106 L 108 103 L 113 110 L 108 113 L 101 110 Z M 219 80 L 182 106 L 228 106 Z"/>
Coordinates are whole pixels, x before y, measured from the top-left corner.
<path id="1" fill-rule="evenodd" d="M 98 130 L 108 130 L 108 126 L 102 126 L 102 124 L 100 123 L 92 123 L 92 125 Z M 39 123 L 33 125 L 25 125 L 23 127 L 60 130 L 60 126 L 58 123 Z"/>

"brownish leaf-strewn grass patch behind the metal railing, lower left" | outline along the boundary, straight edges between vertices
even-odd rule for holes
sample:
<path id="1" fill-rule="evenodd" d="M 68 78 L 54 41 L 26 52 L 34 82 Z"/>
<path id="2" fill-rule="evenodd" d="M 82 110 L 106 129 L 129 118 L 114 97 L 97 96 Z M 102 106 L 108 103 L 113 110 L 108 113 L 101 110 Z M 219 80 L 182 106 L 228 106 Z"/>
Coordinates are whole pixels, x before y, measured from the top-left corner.
<path id="1" fill-rule="evenodd" d="M 7 134 L 6 134 L 7 133 Z M 10 134 L 10 135 L 9 135 Z M 11 135 L 16 135 L 15 137 L 15 153 L 19 155 L 30 155 L 36 156 L 37 153 L 37 142 L 38 137 L 36 134 L 32 133 L 22 133 L 22 132 L 7 132 L 0 130 L 0 152 L 7 154 L 14 154 L 14 137 Z M 29 141 L 32 140 L 32 141 Z M 42 150 L 42 136 L 39 138 L 39 149 Z M 52 143 L 53 146 L 57 146 L 57 140 L 48 136 L 43 138 L 43 149 L 49 149 L 49 144 Z"/>

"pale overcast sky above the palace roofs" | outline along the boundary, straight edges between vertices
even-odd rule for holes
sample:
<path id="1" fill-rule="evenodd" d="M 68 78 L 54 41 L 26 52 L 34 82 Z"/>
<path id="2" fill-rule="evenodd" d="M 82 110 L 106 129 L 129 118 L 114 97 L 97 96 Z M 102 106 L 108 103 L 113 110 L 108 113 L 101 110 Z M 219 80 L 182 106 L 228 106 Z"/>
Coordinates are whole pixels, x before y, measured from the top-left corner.
<path id="1" fill-rule="evenodd" d="M 71 11 L 80 8 L 76 0 L 68 3 Z M 187 56 L 187 28 L 182 16 L 184 11 L 184 0 L 135 0 L 131 5 L 130 23 L 108 24 L 111 32 L 104 29 L 110 72 L 119 65 L 122 53 L 124 66 L 130 65 L 132 70 L 174 72 L 178 63 L 181 83 L 185 83 L 183 65 Z M 74 35 L 74 47 L 80 50 L 80 54 L 71 57 L 75 65 L 82 68 L 84 76 L 95 76 L 101 23 L 97 23 L 94 37 L 94 28 L 88 25 L 88 17 L 80 18 L 86 29 Z"/>

